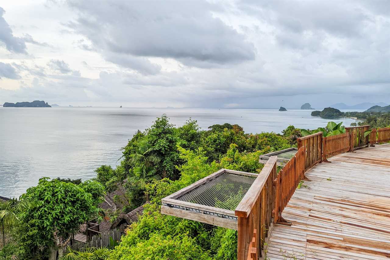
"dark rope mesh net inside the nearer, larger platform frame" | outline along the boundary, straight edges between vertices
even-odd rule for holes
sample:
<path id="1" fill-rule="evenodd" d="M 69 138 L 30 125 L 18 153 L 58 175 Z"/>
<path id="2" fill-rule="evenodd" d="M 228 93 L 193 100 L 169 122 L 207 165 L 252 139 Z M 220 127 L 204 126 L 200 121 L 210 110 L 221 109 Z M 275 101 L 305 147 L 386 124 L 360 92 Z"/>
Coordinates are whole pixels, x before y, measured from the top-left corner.
<path id="1" fill-rule="evenodd" d="M 235 210 L 256 176 L 222 173 L 176 200 L 220 209 Z"/>

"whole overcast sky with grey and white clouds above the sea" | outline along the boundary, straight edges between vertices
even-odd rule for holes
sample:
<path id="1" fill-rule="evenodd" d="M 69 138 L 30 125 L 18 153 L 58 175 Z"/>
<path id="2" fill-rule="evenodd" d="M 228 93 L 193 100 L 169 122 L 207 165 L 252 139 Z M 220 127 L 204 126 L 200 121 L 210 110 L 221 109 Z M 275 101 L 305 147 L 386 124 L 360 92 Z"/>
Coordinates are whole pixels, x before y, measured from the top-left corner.
<path id="1" fill-rule="evenodd" d="M 390 1 L 2 0 L 0 103 L 390 103 Z"/>

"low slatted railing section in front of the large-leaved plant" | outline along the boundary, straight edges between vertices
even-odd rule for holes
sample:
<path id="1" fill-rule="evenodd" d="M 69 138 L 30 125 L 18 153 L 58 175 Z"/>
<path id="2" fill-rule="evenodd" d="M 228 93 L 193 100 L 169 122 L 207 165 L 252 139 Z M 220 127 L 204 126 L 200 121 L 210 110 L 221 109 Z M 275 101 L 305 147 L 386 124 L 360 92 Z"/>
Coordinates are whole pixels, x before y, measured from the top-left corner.
<path id="1" fill-rule="evenodd" d="M 349 133 L 323 137 L 322 156 L 323 161 L 329 157 L 351 150 L 351 136 Z"/>

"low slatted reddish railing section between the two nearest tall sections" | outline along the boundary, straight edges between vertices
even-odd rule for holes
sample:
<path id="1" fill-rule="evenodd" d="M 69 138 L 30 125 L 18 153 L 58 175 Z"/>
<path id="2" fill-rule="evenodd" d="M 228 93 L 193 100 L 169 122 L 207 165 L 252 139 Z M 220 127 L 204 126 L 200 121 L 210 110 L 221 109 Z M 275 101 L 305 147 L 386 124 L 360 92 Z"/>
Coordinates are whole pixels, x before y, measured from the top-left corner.
<path id="1" fill-rule="evenodd" d="M 279 171 L 276 178 L 274 223 L 281 220 L 284 207 L 293 196 L 299 182 L 305 177 L 306 147 L 301 147 L 293 158 Z"/>

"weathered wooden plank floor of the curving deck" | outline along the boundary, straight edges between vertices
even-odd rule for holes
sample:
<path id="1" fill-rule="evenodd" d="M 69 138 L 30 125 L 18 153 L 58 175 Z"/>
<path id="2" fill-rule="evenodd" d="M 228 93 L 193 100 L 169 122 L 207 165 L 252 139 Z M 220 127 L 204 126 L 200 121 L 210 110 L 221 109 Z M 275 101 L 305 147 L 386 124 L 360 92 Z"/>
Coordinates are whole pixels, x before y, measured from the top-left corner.
<path id="1" fill-rule="evenodd" d="M 292 225 L 273 227 L 266 259 L 390 259 L 390 144 L 329 161 L 305 174 L 308 188 L 282 213 Z"/>

